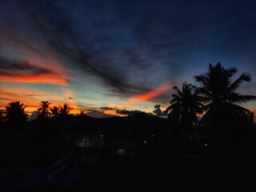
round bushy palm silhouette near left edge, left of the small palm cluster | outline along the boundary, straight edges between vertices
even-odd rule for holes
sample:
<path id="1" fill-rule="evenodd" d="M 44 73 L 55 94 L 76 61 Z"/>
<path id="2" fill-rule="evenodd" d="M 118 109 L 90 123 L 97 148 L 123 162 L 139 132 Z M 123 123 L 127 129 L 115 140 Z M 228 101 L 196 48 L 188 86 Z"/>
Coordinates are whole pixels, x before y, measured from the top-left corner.
<path id="1" fill-rule="evenodd" d="M 5 118 L 10 122 L 26 122 L 27 114 L 24 109 L 26 106 L 20 102 L 10 102 L 9 106 L 6 106 Z"/>

